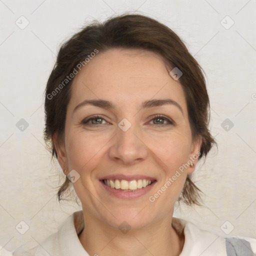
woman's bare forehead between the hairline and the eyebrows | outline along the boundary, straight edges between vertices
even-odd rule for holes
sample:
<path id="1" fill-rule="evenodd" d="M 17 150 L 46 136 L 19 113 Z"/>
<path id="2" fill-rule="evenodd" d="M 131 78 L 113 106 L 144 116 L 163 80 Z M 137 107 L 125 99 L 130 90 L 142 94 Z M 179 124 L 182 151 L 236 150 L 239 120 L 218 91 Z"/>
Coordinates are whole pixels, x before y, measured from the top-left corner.
<path id="1" fill-rule="evenodd" d="M 131 103 L 172 98 L 186 108 L 181 84 L 169 75 L 162 58 L 139 49 L 99 52 L 75 76 L 70 103 L 92 98 Z M 75 102 L 74 102 L 75 101 Z"/>

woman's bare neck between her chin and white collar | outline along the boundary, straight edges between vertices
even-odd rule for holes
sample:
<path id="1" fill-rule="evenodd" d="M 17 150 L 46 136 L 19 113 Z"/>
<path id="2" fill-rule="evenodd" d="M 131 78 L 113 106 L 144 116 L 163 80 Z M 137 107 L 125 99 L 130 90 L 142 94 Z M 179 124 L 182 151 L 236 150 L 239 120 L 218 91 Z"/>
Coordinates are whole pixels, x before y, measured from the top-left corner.
<path id="1" fill-rule="evenodd" d="M 102 256 L 178 256 L 183 248 L 183 230 L 172 217 L 140 229 L 122 233 L 83 211 L 84 228 L 79 240 L 89 255 Z"/>

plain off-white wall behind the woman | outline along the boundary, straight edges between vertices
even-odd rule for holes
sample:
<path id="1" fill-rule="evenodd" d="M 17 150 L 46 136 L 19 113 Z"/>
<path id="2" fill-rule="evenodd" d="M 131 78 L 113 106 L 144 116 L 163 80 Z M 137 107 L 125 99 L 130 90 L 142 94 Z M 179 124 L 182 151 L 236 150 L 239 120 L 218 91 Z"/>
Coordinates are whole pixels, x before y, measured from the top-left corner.
<path id="1" fill-rule="evenodd" d="M 255 10 L 255 0 L 0 0 L 0 245 L 40 243 L 80 209 L 56 200 L 60 171 L 43 141 L 43 91 L 64 39 L 126 11 L 172 28 L 206 73 L 218 151 L 194 172 L 204 205 L 181 205 L 174 216 L 220 236 L 256 238 Z M 20 221 L 29 226 L 23 235 Z"/>

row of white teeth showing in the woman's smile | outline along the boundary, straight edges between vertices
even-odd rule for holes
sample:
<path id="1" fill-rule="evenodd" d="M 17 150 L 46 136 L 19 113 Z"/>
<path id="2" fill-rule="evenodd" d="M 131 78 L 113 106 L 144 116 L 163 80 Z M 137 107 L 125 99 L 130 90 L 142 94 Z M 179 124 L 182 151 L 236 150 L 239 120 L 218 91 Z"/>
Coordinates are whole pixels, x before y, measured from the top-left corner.
<path id="1" fill-rule="evenodd" d="M 146 186 L 151 185 L 156 180 L 148 180 L 148 179 L 137 179 L 137 180 L 125 180 L 125 179 L 101 179 L 105 185 L 114 188 L 120 191 L 135 191 Z"/>

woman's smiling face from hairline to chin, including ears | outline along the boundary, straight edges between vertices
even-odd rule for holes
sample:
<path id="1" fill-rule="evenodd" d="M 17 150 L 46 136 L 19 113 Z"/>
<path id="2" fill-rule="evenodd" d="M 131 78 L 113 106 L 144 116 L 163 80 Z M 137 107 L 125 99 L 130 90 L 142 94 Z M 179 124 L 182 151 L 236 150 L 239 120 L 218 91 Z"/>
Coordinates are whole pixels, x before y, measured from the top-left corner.
<path id="1" fill-rule="evenodd" d="M 111 49 L 96 54 L 73 80 L 58 161 L 72 170 L 84 213 L 112 227 L 171 219 L 194 169 L 186 167 L 197 161 L 200 141 L 192 141 L 184 92 L 168 71 L 152 52 Z M 139 179 L 151 184 L 134 192 L 111 187 L 118 188 L 118 180 L 123 188 L 141 187 Z"/>

